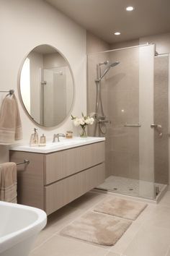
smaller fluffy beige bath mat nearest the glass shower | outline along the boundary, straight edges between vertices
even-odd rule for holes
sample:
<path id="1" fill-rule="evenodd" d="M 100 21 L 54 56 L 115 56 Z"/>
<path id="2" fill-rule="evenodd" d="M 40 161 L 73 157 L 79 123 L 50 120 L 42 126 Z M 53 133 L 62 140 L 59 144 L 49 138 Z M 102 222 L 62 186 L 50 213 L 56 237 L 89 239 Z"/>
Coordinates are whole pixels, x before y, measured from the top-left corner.
<path id="1" fill-rule="evenodd" d="M 94 208 L 94 211 L 118 216 L 120 218 L 128 218 L 134 221 L 146 206 L 147 204 L 143 202 L 114 197 L 99 203 L 99 205 Z"/>

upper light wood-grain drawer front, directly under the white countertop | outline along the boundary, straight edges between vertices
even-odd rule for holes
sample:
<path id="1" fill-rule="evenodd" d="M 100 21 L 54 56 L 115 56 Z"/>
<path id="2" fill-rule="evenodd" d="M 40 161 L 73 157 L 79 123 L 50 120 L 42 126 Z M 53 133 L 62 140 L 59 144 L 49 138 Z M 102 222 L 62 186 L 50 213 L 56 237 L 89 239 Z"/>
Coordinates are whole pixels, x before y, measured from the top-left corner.
<path id="1" fill-rule="evenodd" d="M 104 142 L 45 155 L 45 184 L 104 162 Z"/>

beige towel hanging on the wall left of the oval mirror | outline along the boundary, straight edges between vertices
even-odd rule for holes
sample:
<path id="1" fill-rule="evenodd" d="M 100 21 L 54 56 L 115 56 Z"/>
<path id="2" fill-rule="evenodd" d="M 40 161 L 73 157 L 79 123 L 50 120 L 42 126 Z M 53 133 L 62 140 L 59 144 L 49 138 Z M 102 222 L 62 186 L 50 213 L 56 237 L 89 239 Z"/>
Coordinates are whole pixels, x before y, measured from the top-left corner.
<path id="1" fill-rule="evenodd" d="M 22 123 L 17 98 L 5 97 L 0 112 L 0 144 L 10 144 L 22 139 Z"/>

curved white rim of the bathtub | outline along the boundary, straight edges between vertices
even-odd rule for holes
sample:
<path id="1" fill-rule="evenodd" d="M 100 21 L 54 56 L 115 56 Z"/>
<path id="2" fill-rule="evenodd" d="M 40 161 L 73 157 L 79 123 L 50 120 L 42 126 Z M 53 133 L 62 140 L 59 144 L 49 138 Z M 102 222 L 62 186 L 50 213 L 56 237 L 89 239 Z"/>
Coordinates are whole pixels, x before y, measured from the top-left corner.
<path id="1" fill-rule="evenodd" d="M 6 251 L 6 249 L 9 249 L 16 244 L 19 244 L 19 242 L 30 238 L 30 236 L 35 236 L 45 227 L 47 223 L 46 213 L 38 208 L 2 201 L 0 201 L 0 205 L 8 205 L 12 208 L 22 208 L 23 210 L 30 210 L 34 213 L 37 213 L 37 220 L 35 222 L 31 223 L 27 227 L 24 227 L 23 229 L 19 229 L 18 231 L 14 231 L 10 234 L 6 234 L 0 238 L 0 253 Z"/>

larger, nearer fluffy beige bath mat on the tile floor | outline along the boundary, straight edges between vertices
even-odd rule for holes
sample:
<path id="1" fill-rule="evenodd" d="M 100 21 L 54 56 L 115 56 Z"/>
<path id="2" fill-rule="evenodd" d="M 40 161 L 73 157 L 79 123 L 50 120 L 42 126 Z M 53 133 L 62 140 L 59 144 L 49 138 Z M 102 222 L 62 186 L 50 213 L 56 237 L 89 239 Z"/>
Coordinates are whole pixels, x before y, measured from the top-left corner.
<path id="1" fill-rule="evenodd" d="M 61 231 L 62 235 L 102 245 L 114 245 L 132 221 L 88 212 Z"/>

